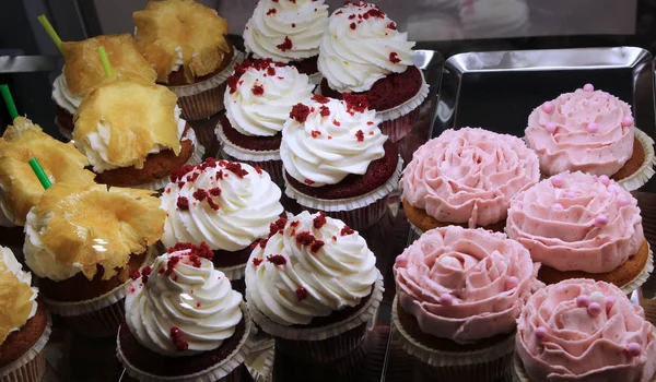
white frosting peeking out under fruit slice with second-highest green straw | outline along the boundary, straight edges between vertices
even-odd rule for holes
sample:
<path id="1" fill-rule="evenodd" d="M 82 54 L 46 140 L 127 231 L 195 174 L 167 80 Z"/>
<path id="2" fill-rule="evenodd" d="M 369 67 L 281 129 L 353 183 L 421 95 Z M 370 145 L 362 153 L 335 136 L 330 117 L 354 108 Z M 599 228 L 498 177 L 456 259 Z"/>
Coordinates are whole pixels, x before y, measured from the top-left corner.
<path id="1" fill-rule="evenodd" d="M 178 139 L 183 139 L 185 127 L 187 121 L 180 118 L 183 109 L 179 106 L 175 106 L 174 109 L 175 121 L 178 128 Z M 94 172 L 102 174 L 104 171 L 118 168 L 120 166 L 109 162 L 107 155 L 109 153 L 109 143 L 112 141 L 112 126 L 107 126 L 103 122 L 97 123 L 97 131 L 90 133 L 81 140 L 75 140 L 75 147 L 80 153 L 84 154 L 89 158 L 89 163 L 93 166 Z M 161 145 L 153 147 L 149 154 L 156 154 L 165 148 Z"/>

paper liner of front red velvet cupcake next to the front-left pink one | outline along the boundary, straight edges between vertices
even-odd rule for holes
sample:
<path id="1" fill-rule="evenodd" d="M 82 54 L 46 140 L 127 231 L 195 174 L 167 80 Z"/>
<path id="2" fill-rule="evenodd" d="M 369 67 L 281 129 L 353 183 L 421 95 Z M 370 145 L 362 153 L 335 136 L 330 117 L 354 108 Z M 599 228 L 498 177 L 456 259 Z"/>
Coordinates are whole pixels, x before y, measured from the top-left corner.
<path id="1" fill-rule="evenodd" d="M 378 278 L 372 288 L 372 295 L 370 299 L 360 308 L 358 312 L 352 314 L 345 320 L 332 323 L 323 327 L 290 327 L 276 323 L 260 312 L 257 307 L 251 302 L 253 299 L 248 298 L 248 311 L 253 317 L 253 321 L 257 323 L 268 334 L 291 341 L 323 341 L 326 338 L 336 337 L 342 333 L 345 333 L 359 325 L 368 322 L 374 315 L 380 300 L 383 300 L 383 275 L 378 272 Z M 248 295 L 248 290 L 246 290 Z"/>

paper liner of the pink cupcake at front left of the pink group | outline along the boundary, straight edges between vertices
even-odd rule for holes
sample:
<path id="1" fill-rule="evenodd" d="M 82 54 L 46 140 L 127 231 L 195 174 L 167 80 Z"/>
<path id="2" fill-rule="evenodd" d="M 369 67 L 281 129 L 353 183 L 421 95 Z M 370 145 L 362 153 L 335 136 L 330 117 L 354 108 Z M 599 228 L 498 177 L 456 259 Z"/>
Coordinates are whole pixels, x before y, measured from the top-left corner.
<path id="1" fill-rule="evenodd" d="M 398 314 L 398 298 L 395 297 L 393 307 L 391 307 L 391 323 L 394 330 L 399 333 L 399 339 L 401 343 L 401 347 L 409 355 L 418 358 L 423 363 L 435 368 L 435 372 L 445 372 L 453 373 L 456 370 L 458 372 L 467 373 L 473 372 L 481 377 L 491 378 L 491 381 L 494 381 L 501 377 L 500 375 L 491 375 L 484 374 L 483 372 L 490 372 L 492 370 L 505 369 L 502 365 L 496 365 L 499 362 L 509 362 L 509 357 L 515 350 L 515 336 L 508 335 L 507 338 L 502 341 L 501 343 L 478 350 L 471 351 L 443 351 L 438 349 L 433 349 L 429 346 L 423 345 L 417 338 L 413 338 L 410 333 L 408 333 L 403 325 L 399 320 Z M 506 362 L 506 363 L 508 363 Z M 478 370 L 478 369 L 481 370 Z M 454 379 L 444 379 L 444 381 L 452 381 Z M 484 381 L 485 379 L 481 379 L 480 381 Z M 478 380 L 477 380 L 478 381 Z"/>

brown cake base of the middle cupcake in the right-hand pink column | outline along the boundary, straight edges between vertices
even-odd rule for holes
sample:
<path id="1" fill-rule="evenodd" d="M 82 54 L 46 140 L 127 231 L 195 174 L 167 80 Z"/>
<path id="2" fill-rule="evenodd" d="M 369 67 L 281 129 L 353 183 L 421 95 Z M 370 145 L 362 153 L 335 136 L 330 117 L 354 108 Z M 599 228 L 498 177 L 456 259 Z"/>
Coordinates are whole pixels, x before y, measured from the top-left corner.
<path id="1" fill-rule="evenodd" d="M 538 278 L 547 285 L 558 284 L 570 278 L 591 278 L 597 282 L 614 284 L 623 293 L 630 294 L 647 280 L 654 270 L 654 259 L 649 243 L 645 239 L 637 252 L 626 262 L 611 272 L 587 273 L 582 271 L 558 271 L 542 264 Z"/>

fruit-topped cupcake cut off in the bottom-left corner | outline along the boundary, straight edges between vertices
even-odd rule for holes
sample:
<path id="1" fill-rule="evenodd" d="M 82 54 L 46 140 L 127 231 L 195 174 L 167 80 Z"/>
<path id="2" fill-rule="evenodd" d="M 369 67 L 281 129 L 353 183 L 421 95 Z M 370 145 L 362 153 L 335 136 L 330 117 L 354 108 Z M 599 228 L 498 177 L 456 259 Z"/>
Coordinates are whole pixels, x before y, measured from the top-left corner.
<path id="1" fill-rule="evenodd" d="M 10 249 L 0 247 L 0 381 L 38 382 L 46 372 L 44 347 L 50 318 L 37 300 L 32 275 Z"/>

